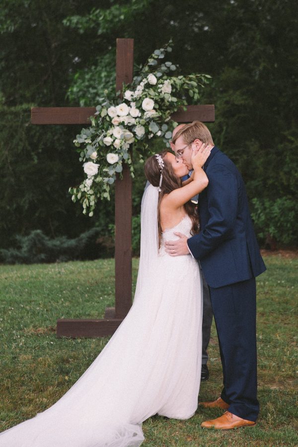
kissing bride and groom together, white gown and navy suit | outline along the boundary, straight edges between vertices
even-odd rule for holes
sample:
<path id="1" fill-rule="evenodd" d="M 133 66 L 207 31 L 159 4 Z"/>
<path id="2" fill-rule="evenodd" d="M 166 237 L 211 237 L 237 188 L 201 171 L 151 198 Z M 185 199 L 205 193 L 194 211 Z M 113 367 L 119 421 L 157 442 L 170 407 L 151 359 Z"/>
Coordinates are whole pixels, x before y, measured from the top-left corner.
<path id="1" fill-rule="evenodd" d="M 204 428 L 251 426 L 259 412 L 255 277 L 265 271 L 242 177 L 199 121 L 145 163 L 141 256 L 133 305 L 107 345 L 52 407 L 0 434 L 1 447 L 128 447 L 158 414 L 198 408 L 202 275 L 210 289 L 224 388 L 200 407 Z M 193 171 L 191 176 L 181 178 Z M 198 209 L 191 203 L 198 195 Z"/>

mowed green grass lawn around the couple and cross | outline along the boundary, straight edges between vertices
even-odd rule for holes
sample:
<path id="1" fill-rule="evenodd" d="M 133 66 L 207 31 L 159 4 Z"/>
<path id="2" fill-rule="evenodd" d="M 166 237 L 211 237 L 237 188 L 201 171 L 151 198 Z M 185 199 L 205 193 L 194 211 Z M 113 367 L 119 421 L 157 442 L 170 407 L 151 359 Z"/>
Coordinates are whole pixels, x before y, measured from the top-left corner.
<path id="1" fill-rule="evenodd" d="M 268 271 L 257 279 L 258 424 L 226 432 L 202 430 L 202 421 L 222 412 L 199 407 L 188 421 L 149 418 L 143 424 L 144 446 L 298 446 L 298 257 L 264 258 Z M 134 281 L 137 267 L 134 259 Z M 57 339 L 57 318 L 103 317 L 113 303 L 113 259 L 0 266 L 1 431 L 57 401 L 108 341 Z M 209 354 L 210 379 L 201 384 L 199 400 L 215 399 L 221 391 L 214 325 Z"/>

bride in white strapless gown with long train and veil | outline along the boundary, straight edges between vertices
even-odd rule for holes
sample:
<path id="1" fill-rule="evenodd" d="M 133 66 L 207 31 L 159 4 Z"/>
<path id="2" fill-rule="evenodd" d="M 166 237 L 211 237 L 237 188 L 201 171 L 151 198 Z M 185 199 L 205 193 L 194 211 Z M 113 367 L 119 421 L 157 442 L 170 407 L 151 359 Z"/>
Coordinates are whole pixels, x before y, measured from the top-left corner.
<path id="1" fill-rule="evenodd" d="M 133 306 L 102 352 L 52 407 L 0 434 L 0 447 L 125 447 L 144 441 L 154 414 L 188 419 L 198 406 L 202 283 L 197 261 L 169 256 L 166 240 L 198 232 L 190 199 L 208 185 L 210 154 L 193 146 L 194 172 L 170 152 L 145 164 L 141 256 Z"/>

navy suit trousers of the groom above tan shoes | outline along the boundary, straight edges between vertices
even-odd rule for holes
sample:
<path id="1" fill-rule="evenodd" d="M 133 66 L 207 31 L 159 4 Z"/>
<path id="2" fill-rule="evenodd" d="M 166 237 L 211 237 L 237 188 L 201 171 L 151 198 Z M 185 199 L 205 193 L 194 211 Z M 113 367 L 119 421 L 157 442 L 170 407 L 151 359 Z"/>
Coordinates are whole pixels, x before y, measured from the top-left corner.
<path id="1" fill-rule="evenodd" d="M 210 296 L 223 365 L 221 397 L 230 405 L 228 411 L 255 421 L 259 413 L 255 278 L 210 287 Z"/>

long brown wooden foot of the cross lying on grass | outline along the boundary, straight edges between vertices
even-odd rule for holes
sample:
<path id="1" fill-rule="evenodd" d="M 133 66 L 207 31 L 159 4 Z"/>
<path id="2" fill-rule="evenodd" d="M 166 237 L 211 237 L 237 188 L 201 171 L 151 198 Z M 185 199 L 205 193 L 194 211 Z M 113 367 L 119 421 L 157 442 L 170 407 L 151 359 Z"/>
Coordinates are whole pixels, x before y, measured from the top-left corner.
<path id="1" fill-rule="evenodd" d="M 59 318 L 57 320 L 57 337 L 106 337 L 114 334 L 123 318 L 80 319 Z"/>

